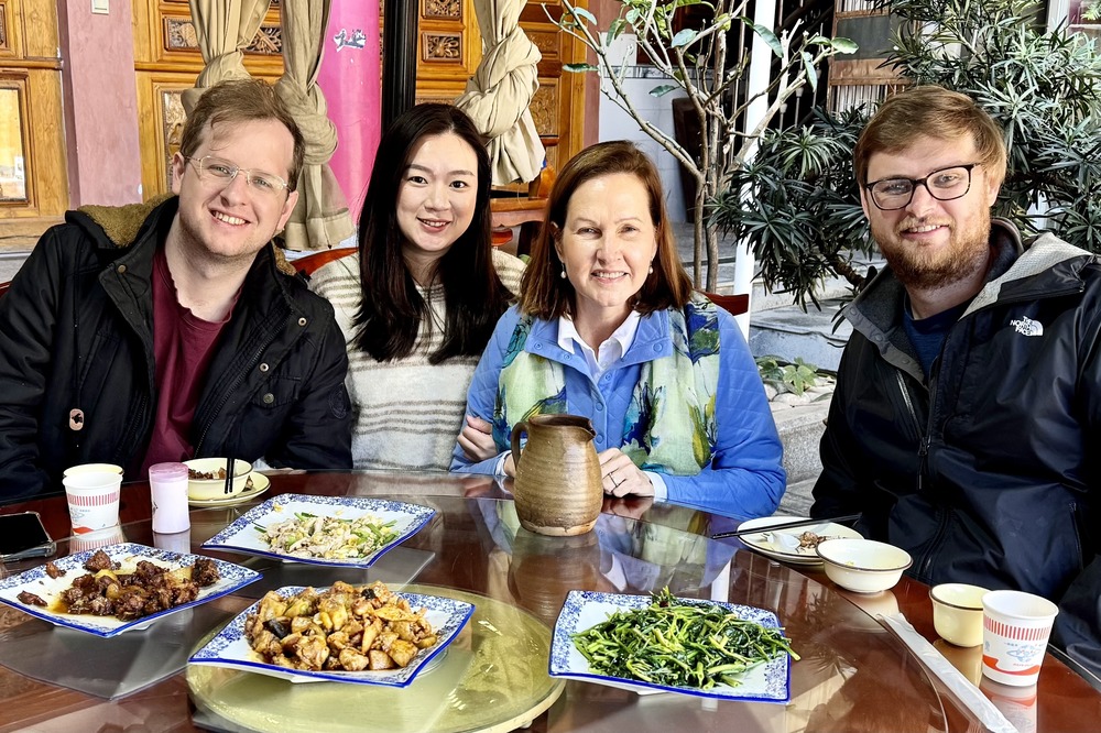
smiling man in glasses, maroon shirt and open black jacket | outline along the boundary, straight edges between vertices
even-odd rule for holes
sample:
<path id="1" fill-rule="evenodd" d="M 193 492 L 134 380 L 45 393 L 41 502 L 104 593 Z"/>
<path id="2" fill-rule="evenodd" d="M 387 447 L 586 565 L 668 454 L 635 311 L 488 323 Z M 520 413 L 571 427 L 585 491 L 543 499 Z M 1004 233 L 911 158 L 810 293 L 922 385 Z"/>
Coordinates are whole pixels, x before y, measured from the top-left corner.
<path id="1" fill-rule="evenodd" d="M 344 337 L 272 242 L 304 147 L 271 86 L 226 81 L 188 116 L 175 196 L 43 234 L 0 298 L 0 503 L 77 463 L 351 467 Z"/>

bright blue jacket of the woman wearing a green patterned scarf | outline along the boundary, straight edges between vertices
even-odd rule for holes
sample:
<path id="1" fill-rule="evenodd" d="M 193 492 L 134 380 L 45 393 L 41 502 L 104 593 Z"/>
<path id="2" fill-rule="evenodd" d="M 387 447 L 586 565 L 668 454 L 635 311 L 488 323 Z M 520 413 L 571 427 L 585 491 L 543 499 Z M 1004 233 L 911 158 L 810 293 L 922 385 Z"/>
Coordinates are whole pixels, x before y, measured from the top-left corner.
<path id="1" fill-rule="evenodd" d="M 467 414 L 493 420 L 498 382 L 509 341 L 520 320 L 510 308 L 497 325 L 467 393 Z M 720 366 L 716 392 L 717 436 L 710 464 L 696 475 L 663 473 L 666 499 L 737 518 L 768 516 L 784 493 L 783 448 L 756 363 L 734 319 L 719 309 Z M 524 344 L 528 353 L 563 365 L 567 409 L 592 422 L 597 452 L 623 445 L 628 406 L 642 364 L 673 353 L 668 313 L 642 316 L 622 358 L 593 379 L 582 355 L 559 344 L 559 322 L 536 320 Z M 499 446 L 502 453 L 506 446 Z M 458 445 L 451 470 L 494 473 L 500 455 L 472 462 Z"/>

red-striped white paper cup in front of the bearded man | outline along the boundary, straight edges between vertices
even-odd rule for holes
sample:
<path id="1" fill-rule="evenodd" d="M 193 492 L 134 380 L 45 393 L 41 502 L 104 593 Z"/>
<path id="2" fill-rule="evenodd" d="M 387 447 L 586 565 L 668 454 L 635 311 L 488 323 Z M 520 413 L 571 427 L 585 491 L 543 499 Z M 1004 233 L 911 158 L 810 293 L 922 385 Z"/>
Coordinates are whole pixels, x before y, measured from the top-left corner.
<path id="1" fill-rule="evenodd" d="M 1002 685 L 1035 685 L 1059 609 L 1021 591 L 982 597 L 982 674 Z"/>

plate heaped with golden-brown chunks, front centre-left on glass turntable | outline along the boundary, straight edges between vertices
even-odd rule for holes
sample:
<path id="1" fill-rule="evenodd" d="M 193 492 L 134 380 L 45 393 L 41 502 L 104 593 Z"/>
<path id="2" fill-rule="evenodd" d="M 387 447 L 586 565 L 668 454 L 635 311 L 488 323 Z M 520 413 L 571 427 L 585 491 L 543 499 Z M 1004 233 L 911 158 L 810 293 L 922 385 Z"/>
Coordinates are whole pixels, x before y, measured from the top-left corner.
<path id="1" fill-rule="evenodd" d="M 406 687 L 462 630 L 473 605 L 384 583 L 270 591 L 188 660 L 282 677 Z"/>

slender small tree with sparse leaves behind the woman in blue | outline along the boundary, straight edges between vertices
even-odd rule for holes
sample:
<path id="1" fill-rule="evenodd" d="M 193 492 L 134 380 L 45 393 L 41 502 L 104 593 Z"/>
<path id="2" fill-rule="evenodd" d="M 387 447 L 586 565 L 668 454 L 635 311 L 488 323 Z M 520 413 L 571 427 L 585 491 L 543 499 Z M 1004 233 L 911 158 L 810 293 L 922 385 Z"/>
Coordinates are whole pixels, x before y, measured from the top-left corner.
<path id="1" fill-rule="evenodd" d="M 787 99 L 803 86 L 816 88 L 821 64 L 835 54 L 853 53 L 857 45 L 848 39 L 804 33 L 797 24 L 777 34 L 748 17 L 749 0 L 622 0 L 618 15 L 607 24 L 607 30 L 600 30 L 597 18 L 588 10 L 569 0 L 563 0 L 562 4 L 566 12 L 560 21 L 552 18 L 552 22 L 588 46 L 597 57 L 596 65 L 568 64 L 566 69 L 601 73 L 604 96 L 626 111 L 643 132 L 680 162 L 685 174 L 696 179 L 693 277 L 697 285 L 704 282 L 706 250 L 706 289 L 715 291 L 719 276 L 719 237 L 716 226 L 706 219 L 706 205 L 730 185 L 731 174 L 744 165 L 757 138 Z M 699 29 L 677 30 L 674 22 L 677 13 L 689 6 L 706 6 L 710 9 L 710 19 Z M 650 94 L 662 97 L 679 89 L 691 100 L 701 131 L 698 156 L 640 112 L 625 91 L 623 84 L 629 62 L 613 61 L 609 56 L 609 45 L 632 31 L 637 37 L 639 50 L 666 77 Z M 733 101 L 733 91 L 749 68 L 749 56 L 728 57 L 727 41 L 732 31 L 760 37 L 775 57 L 768 87 L 737 101 Z M 741 131 L 741 118 L 751 106 L 756 107 L 759 100 L 764 102 L 764 111 L 756 129 Z"/>

